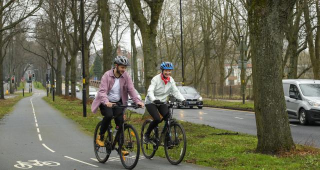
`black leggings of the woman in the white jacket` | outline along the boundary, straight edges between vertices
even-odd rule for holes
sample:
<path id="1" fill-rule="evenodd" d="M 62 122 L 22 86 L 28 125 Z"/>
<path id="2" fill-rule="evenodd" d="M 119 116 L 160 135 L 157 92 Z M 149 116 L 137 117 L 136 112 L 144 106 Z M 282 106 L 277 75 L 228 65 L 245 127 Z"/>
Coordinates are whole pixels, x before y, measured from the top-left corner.
<path id="1" fill-rule="evenodd" d="M 165 118 L 165 120 L 167 119 L 167 115 L 169 112 L 169 108 L 166 104 L 161 104 L 159 106 L 150 103 L 150 104 L 146 104 L 145 105 L 146 110 L 149 112 L 149 114 L 152 116 L 153 120 L 150 122 L 148 129 L 146 130 L 145 134 L 146 135 L 150 135 L 152 129 L 159 124 L 160 122 L 160 115 L 159 113 Z M 158 113 L 159 111 L 159 113 Z"/>

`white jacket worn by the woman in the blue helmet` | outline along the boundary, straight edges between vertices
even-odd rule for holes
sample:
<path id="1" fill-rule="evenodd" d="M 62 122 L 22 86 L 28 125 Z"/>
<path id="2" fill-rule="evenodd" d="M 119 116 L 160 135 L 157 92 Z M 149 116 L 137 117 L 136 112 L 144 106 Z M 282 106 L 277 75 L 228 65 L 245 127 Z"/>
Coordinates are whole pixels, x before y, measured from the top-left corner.
<path id="1" fill-rule="evenodd" d="M 160 73 L 161 74 L 161 73 Z M 145 104 L 153 103 L 155 99 L 166 101 L 166 97 L 171 93 L 180 101 L 185 100 L 178 88 L 175 86 L 174 79 L 170 76 L 170 81 L 164 84 L 161 75 L 155 75 L 148 87 L 148 93 L 145 96 Z"/>

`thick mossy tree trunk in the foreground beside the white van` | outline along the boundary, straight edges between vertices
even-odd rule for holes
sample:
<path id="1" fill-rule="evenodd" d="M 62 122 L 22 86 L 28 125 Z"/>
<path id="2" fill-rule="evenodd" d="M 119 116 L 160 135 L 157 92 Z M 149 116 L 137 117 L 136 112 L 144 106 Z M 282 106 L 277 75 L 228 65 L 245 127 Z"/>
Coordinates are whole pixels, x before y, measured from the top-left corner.
<path id="1" fill-rule="evenodd" d="M 294 147 L 282 87 L 283 25 L 295 0 L 247 0 L 257 152 Z"/>

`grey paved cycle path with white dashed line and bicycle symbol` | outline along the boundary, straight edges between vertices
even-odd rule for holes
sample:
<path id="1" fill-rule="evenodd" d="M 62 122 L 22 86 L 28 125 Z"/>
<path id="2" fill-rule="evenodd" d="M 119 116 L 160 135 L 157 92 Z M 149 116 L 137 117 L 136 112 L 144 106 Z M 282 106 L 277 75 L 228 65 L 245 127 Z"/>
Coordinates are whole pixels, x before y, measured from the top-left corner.
<path id="1" fill-rule="evenodd" d="M 30 161 L 32 169 L 123 169 L 115 151 L 107 162 L 94 160 L 92 136 L 41 99 L 44 91 L 21 99 L 0 120 L 0 169 Z M 40 161 L 40 162 L 37 162 Z M 44 161 L 44 162 L 43 162 Z M 54 166 L 45 161 L 52 161 Z M 190 163 L 171 165 L 166 159 L 141 159 L 135 169 L 208 169 Z"/>

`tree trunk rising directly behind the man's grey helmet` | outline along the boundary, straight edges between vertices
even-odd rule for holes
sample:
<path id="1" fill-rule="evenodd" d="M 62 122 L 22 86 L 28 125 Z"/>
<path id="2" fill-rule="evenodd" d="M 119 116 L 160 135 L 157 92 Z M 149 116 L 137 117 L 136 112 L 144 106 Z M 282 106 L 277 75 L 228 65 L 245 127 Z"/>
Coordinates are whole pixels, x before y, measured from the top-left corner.
<path id="1" fill-rule="evenodd" d="M 112 64 L 112 45 L 110 37 L 111 15 L 108 0 L 98 0 L 98 10 L 101 17 L 101 33 L 103 42 L 103 73 L 111 69 Z"/>

